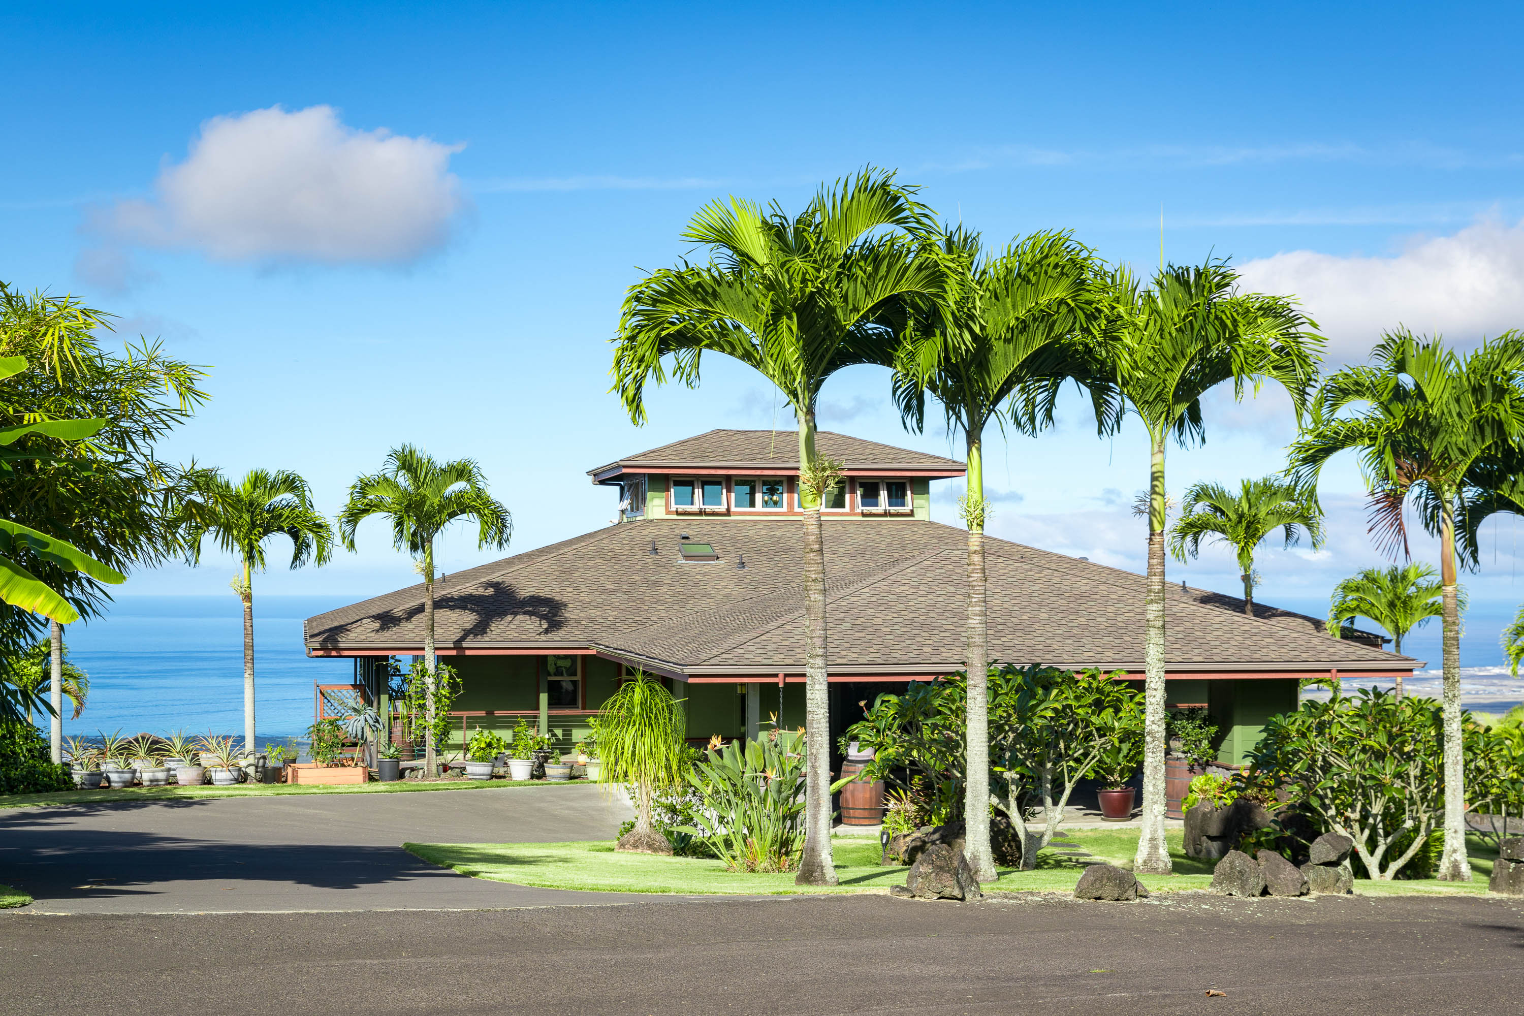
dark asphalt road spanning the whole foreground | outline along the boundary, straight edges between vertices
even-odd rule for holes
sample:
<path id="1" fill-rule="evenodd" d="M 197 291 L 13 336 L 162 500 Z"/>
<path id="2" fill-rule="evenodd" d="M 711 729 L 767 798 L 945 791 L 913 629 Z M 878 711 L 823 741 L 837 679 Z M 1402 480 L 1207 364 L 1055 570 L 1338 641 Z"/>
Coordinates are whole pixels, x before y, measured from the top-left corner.
<path id="1" fill-rule="evenodd" d="M 0 914 L 9 1014 L 1516 1013 L 1500 899 L 651 900 L 411 914 Z M 1207 998 L 1207 989 L 1225 992 Z"/>

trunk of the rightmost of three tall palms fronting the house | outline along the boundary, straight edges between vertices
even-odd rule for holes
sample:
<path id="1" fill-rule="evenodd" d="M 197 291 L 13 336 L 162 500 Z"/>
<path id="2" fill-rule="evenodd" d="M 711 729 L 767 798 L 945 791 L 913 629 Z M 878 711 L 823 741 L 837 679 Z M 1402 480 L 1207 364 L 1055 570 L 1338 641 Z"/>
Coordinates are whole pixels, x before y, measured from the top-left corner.
<path id="1" fill-rule="evenodd" d="M 1143 827 L 1132 870 L 1170 874 L 1164 842 L 1164 428 L 1151 434 L 1148 586 L 1143 615 Z"/>

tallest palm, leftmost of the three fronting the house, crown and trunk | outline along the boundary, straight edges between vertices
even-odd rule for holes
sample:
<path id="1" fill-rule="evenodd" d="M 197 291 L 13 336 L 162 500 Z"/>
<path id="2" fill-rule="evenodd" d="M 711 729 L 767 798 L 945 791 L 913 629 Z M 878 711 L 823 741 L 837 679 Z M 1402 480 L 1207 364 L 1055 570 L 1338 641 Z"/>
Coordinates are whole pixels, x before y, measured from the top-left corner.
<path id="1" fill-rule="evenodd" d="M 625 297 L 614 390 L 634 423 L 645 385 L 672 375 L 696 385 L 706 352 L 733 356 L 777 385 L 799 420 L 805 522 L 805 851 L 800 885 L 835 885 L 831 859 L 831 707 L 826 684 L 826 573 L 820 495 L 840 469 L 815 452 L 815 404 L 826 379 L 853 364 L 893 366 L 905 302 L 943 296 L 934 228 L 916 187 L 864 169 L 821 187 L 797 216 L 730 198 L 704 206 L 683 232 L 709 247 L 704 265 L 648 274 Z"/>

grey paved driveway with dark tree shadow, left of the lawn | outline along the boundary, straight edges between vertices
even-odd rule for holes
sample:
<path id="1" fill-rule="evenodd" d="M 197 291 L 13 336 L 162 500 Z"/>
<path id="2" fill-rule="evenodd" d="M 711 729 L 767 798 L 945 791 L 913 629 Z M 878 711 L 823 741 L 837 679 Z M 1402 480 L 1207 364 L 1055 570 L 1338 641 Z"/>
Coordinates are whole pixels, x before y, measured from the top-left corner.
<path id="1" fill-rule="evenodd" d="M 11 809 L 0 882 L 52 914 L 608 903 L 629 897 L 468 879 L 401 844 L 602 839 L 626 816 L 591 786 Z"/>

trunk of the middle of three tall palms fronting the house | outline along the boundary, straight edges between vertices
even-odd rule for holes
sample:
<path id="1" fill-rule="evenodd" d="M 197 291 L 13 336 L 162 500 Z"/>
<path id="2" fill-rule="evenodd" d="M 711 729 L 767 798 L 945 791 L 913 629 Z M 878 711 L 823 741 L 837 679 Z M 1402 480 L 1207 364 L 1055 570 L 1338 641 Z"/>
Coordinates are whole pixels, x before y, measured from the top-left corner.
<path id="1" fill-rule="evenodd" d="M 980 882 L 994 882 L 995 855 L 989 845 L 989 614 L 985 579 L 985 463 L 981 434 L 966 427 L 968 436 L 968 737 L 965 739 L 966 778 L 963 781 L 963 856 Z"/>

